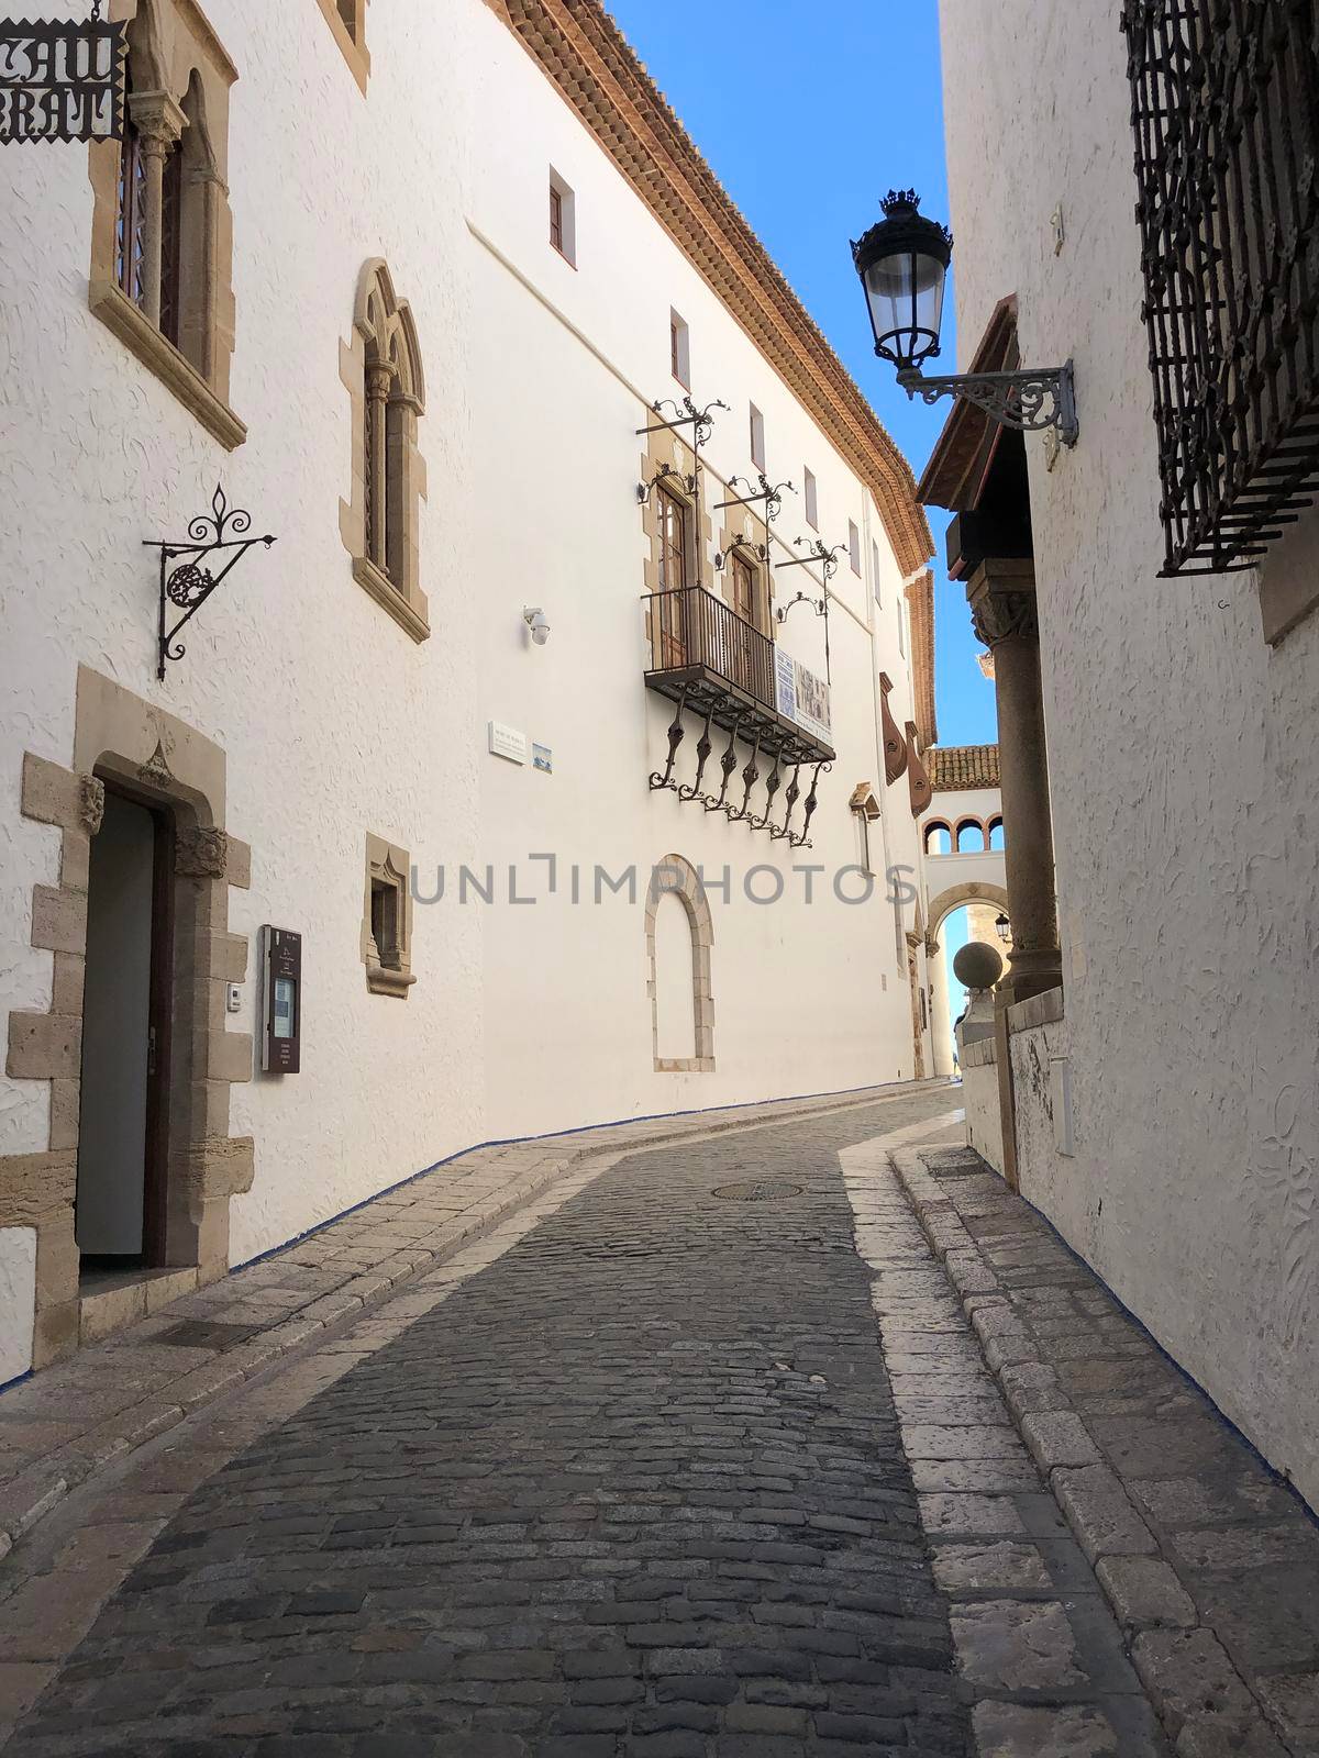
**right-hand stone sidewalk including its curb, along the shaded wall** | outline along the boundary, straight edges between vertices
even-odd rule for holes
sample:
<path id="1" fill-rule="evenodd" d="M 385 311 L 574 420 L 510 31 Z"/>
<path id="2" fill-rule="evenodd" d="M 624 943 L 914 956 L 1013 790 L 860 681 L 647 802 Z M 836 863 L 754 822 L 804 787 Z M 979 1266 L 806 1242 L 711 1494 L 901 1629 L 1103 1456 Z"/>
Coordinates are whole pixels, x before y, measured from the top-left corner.
<path id="1" fill-rule="evenodd" d="M 1319 1531 L 1300 1498 L 980 1155 L 893 1164 L 1177 1758 L 1314 1758 Z"/>

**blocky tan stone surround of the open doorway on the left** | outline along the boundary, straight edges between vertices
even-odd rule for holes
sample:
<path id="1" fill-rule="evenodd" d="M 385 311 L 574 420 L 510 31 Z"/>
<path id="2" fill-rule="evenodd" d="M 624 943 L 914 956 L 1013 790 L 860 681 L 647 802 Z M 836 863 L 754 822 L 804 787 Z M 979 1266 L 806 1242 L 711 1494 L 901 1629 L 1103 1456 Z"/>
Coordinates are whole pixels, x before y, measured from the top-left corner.
<path id="1" fill-rule="evenodd" d="M 227 1028 L 227 986 L 248 974 L 248 942 L 229 932 L 229 891 L 251 884 L 251 849 L 225 830 L 225 752 L 195 728 L 88 666 L 77 668 L 72 765 L 23 754 L 23 817 L 60 832 L 60 883 L 32 888 L 30 944 L 53 958 L 46 1011 L 9 1014 L 5 1072 L 49 1085 L 47 1144 L 0 1155 L 0 1227 L 37 1232 L 33 1368 L 70 1354 L 90 1315 L 79 1296 L 77 1143 L 88 874 L 106 782 L 174 823 L 174 1028 L 169 1079 L 164 1271 L 134 1285 L 123 1320 L 229 1271 L 229 1204 L 251 1188 L 255 1143 L 229 1134 L 236 1081 L 250 1081 L 253 1037 Z M 98 1329 L 88 1333 L 88 1341 Z"/>

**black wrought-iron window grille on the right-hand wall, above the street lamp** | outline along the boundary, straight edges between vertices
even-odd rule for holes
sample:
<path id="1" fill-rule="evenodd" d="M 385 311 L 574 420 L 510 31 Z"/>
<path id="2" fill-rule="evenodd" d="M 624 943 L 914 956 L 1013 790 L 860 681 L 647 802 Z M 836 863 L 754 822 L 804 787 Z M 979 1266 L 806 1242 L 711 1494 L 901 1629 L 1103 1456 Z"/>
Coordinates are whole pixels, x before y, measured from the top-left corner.
<path id="1" fill-rule="evenodd" d="M 1319 487 L 1319 11 L 1127 0 L 1164 575 L 1250 568 Z"/>

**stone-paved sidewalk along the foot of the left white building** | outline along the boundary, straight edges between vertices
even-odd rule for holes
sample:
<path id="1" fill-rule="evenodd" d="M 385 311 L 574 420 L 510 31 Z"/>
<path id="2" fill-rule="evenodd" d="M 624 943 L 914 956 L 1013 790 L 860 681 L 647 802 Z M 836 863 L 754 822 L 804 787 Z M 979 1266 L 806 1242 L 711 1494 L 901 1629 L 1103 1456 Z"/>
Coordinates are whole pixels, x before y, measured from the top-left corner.
<path id="1" fill-rule="evenodd" d="M 586 1162 L 895 1102 L 915 1090 L 879 1086 L 477 1148 L 385 1190 L 0 1394 L 0 1559 L 111 1461 L 369 1311 Z"/>

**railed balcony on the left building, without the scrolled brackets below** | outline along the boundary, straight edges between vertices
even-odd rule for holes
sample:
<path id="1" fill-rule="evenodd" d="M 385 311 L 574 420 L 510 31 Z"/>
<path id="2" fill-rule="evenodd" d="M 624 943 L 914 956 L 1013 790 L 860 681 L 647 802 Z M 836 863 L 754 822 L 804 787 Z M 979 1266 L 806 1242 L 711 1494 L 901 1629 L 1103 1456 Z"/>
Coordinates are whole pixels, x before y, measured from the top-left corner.
<path id="1" fill-rule="evenodd" d="M 739 731 L 783 763 L 832 761 L 816 730 L 779 712 L 779 656 L 769 635 L 705 587 L 651 592 L 642 599 L 651 643 L 645 687 L 686 705 L 714 726 Z M 823 686 L 821 686 L 823 689 Z"/>

